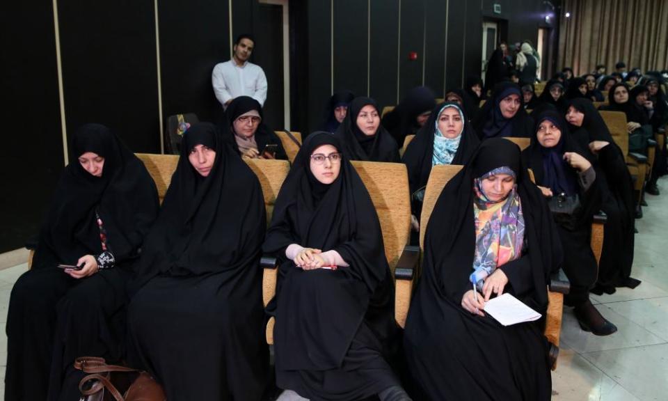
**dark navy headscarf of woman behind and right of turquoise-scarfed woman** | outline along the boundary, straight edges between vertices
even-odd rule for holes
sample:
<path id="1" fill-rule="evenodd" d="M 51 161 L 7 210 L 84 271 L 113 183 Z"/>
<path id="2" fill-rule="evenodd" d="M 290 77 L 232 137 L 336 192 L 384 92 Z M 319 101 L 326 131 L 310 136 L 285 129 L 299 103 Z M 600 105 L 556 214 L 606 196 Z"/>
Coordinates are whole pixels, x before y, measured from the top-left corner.
<path id="1" fill-rule="evenodd" d="M 513 118 L 504 118 L 499 104 L 504 97 L 513 93 L 520 97 L 520 107 Z M 524 109 L 524 97 L 520 87 L 512 82 L 502 82 L 495 86 L 490 99 L 485 102 L 473 121 L 473 127 L 481 140 L 503 136 L 530 138 L 533 121 Z"/>

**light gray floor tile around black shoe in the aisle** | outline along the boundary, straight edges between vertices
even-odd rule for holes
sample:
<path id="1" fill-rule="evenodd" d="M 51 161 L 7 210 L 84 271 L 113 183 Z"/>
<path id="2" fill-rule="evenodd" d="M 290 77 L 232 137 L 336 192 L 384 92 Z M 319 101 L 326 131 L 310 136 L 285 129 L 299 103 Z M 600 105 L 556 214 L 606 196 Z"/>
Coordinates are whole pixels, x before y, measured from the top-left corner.
<path id="1" fill-rule="evenodd" d="M 638 347 L 640 345 L 651 345 L 665 343 L 665 340 L 655 336 L 650 331 L 643 329 L 639 324 L 636 324 L 626 317 L 619 315 L 614 310 L 605 305 L 597 305 L 601 314 L 607 320 L 617 326 L 617 333 L 610 336 L 594 336 L 594 334 L 587 331 L 582 331 L 578 321 L 573 315 L 572 308 L 564 309 L 564 317 L 562 322 L 561 340 L 578 352 L 594 352 L 603 351 L 605 349 L 617 349 L 624 347 Z"/>

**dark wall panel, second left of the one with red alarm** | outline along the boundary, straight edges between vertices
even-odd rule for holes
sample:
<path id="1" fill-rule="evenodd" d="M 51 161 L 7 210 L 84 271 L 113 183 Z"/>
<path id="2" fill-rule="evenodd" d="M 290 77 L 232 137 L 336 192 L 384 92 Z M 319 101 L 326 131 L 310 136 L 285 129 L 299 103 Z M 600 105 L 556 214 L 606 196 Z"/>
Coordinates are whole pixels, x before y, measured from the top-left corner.
<path id="1" fill-rule="evenodd" d="M 368 3 L 334 1 L 334 91 L 367 95 Z"/>

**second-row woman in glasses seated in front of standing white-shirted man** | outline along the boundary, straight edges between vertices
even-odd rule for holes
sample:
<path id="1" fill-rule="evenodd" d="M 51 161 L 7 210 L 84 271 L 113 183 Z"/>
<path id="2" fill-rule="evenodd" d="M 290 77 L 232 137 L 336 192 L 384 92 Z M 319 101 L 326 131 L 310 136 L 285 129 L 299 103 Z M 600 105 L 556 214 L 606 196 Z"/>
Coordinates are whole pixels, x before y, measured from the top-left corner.
<path id="1" fill-rule="evenodd" d="M 280 138 L 262 123 L 262 106 L 249 96 L 235 97 L 225 111 L 223 132 L 230 132 L 234 150 L 244 159 L 287 160 Z"/>

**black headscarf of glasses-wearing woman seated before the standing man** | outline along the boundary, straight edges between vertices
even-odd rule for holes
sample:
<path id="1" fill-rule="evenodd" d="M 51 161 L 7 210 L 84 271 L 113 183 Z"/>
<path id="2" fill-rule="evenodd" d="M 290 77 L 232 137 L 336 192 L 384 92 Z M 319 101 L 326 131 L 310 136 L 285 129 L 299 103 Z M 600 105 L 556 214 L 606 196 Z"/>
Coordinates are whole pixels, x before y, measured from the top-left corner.
<path id="1" fill-rule="evenodd" d="M 241 155 L 239 152 L 239 146 L 237 146 L 237 141 L 234 141 L 234 127 L 232 123 L 234 120 L 237 120 L 239 116 L 243 116 L 244 113 L 248 111 L 255 110 L 260 114 L 260 118 L 264 120 L 264 114 L 262 113 L 262 105 L 257 100 L 253 99 L 250 96 L 239 96 L 234 97 L 234 100 L 228 105 L 228 109 L 225 110 L 225 118 L 223 118 L 223 127 L 221 131 L 224 134 L 224 138 L 229 140 L 232 144 L 232 148 Z M 257 150 L 262 152 L 264 146 L 267 146 L 269 143 L 276 144 L 278 146 L 276 150 L 276 159 L 287 160 L 287 153 L 283 149 L 283 143 L 276 135 L 276 132 L 273 132 L 272 129 L 267 127 L 267 124 L 264 121 L 260 121 L 257 130 L 255 131 L 255 143 L 257 143 Z"/>

